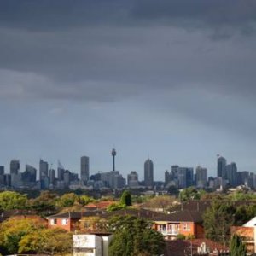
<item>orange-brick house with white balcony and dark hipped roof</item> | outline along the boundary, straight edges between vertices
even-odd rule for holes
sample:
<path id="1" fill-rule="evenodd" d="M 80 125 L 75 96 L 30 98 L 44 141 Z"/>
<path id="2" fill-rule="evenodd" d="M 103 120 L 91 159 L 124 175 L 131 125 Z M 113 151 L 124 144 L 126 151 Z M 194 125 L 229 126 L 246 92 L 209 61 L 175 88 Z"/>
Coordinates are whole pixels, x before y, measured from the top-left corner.
<path id="1" fill-rule="evenodd" d="M 204 238 L 201 212 L 185 210 L 158 215 L 152 220 L 154 230 L 159 231 L 166 240 L 175 240 L 177 235 Z"/>

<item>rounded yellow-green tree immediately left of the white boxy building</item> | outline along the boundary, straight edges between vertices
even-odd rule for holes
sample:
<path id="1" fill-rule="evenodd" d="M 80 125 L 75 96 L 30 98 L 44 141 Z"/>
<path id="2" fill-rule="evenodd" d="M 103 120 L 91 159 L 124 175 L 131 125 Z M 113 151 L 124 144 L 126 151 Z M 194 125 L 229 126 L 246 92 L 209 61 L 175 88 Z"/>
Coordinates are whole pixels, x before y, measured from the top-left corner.
<path id="1" fill-rule="evenodd" d="M 23 236 L 19 242 L 19 253 L 65 255 L 72 253 L 72 248 L 72 234 L 60 228 L 35 230 Z"/>

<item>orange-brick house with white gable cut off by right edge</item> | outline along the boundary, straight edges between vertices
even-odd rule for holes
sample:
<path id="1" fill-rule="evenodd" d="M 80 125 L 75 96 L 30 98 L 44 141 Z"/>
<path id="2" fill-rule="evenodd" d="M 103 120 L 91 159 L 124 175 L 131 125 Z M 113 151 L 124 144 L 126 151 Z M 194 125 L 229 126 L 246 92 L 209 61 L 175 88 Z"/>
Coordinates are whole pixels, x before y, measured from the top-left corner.
<path id="1" fill-rule="evenodd" d="M 256 217 L 242 226 L 231 227 L 231 235 L 241 236 L 248 253 L 256 253 Z"/>

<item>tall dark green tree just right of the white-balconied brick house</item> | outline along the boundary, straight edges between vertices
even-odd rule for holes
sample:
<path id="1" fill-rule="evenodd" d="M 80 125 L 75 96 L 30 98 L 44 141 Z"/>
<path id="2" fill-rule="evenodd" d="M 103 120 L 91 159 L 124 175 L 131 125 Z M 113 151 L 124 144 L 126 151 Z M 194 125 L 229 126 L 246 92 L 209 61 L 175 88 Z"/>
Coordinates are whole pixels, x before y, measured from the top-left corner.
<path id="1" fill-rule="evenodd" d="M 234 224 L 235 208 L 222 201 L 213 201 L 203 215 L 206 237 L 226 245 L 230 240 L 230 227 Z"/>

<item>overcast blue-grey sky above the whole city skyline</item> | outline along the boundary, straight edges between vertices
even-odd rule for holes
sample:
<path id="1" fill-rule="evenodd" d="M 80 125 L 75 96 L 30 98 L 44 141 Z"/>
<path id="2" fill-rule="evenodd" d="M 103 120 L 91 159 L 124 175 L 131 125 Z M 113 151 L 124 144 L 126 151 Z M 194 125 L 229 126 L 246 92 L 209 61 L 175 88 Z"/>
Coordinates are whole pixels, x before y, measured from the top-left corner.
<path id="1" fill-rule="evenodd" d="M 254 0 L 0 1 L 0 165 L 256 172 L 255 82 Z"/>

